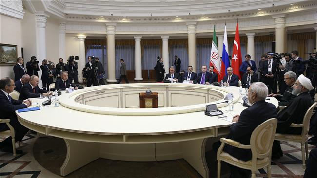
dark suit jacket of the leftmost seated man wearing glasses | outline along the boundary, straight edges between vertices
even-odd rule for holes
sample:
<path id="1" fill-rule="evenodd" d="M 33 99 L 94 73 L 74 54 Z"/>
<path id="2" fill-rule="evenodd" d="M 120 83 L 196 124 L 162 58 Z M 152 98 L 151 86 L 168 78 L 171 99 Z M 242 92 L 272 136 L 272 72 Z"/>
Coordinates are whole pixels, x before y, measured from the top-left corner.
<path id="1" fill-rule="evenodd" d="M 11 102 L 8 97 L 0 90 L 0 118 L 1 119 L 10 119 L 10 124 L 17 120 L 16 110 L 26 108 L 27 106 L 22 104 L 22 101 L 14 100 L 11 98 Z M 6 130 L 6 124 L 0 124 L 0 131 Z"/>

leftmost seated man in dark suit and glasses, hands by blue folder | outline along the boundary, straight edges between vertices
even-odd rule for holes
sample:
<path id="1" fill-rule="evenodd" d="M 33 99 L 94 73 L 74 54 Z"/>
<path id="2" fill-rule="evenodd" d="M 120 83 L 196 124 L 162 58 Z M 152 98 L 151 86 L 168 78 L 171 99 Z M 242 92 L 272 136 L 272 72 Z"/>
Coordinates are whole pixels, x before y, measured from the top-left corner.
<path id="1" fill-rule="evenodd" d="M 31 100 L 19 101 L 14 100 L 9 95 L 14 90 L 14 81 L 11 78 L 2 78 L 0 80 L 0 118 L 10 119 L 10 125 L 15 130 L 15 140 L 22 141 L 24 135 L 28 132 L 28 128 L 24 127 L 18 121 L 16 110 L 31 106 Z M 0 124 L 0 131 L 9 130 L 5 123 Z M 12 152 L 12 138 L 8 137 L 0 142 L 0 149 L 3 152 Z M 16 150 L 16 153 L 22 153 L 22 150 Z"/>

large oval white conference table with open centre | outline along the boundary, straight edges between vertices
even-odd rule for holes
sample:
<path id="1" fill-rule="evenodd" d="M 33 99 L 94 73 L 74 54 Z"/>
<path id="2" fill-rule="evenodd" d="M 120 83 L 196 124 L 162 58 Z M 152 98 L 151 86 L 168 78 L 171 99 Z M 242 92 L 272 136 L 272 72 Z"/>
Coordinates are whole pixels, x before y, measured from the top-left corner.
<path id="1" fill-rule="evenodd" d="M 139 93 L 158 92 L 158 107 L 140 109 Z M 245 92 L 245 91 L 243 91 Z M 234 110 L 226 112 L 227 93 L 234 95 Z M 231 121 L 204 114 L 217 104 L 232 117 L 242 106 L 238 87 L 182 83 L 136 83 L 86 87 L 59 96 L 59 107 L 17 113 L 20 123 L 34 131 L 64 139 L 67 155 L 60 175 L 98 158 L 125 161 L 185 159 L 209 178 L 205 151 L 211 137 L 229 132 Z M 32 99 L 42 103 L 45 99 Z M 46 99 L 47 100 L 47 99 Z M 267 100 L 276 107 L 275 98 Z"/>

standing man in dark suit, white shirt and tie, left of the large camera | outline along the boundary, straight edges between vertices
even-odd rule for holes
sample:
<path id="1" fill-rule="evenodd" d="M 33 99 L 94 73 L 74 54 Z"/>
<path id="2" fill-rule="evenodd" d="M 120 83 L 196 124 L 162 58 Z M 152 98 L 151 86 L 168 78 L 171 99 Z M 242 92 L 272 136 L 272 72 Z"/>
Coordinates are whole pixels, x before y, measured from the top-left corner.
<path id="1" fill-rule="evenodd" d="M 277 93 L 277 86 L 273 88 L 277 63 L 273 60 L 273 52 L 267 52 L 268 60 L 261 63 L 262 81 L 268 86 L 269 94 Z"/>

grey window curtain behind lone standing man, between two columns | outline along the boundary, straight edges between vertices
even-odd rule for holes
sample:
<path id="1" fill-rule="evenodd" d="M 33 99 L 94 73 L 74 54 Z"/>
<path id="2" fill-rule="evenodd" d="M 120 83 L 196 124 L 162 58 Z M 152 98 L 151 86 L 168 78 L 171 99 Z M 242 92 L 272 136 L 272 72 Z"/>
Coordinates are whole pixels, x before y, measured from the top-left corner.
<path id="1" fill-rule="evenodd" d="M 180 64 L 180 71 L 185 70 L 187 71 L 187 66 L 188 66 L 188 50 L 186 45 L 170 45 L 169 49 L 169 66 L 174 66 L 174 61 L 175 58 L 174 56 L 177 55 L 178 58 L 181 61 Z M 164 59 L 165 60 L 165 59 Z M 167 72 L 166 72 L 167 73 Z"/>

